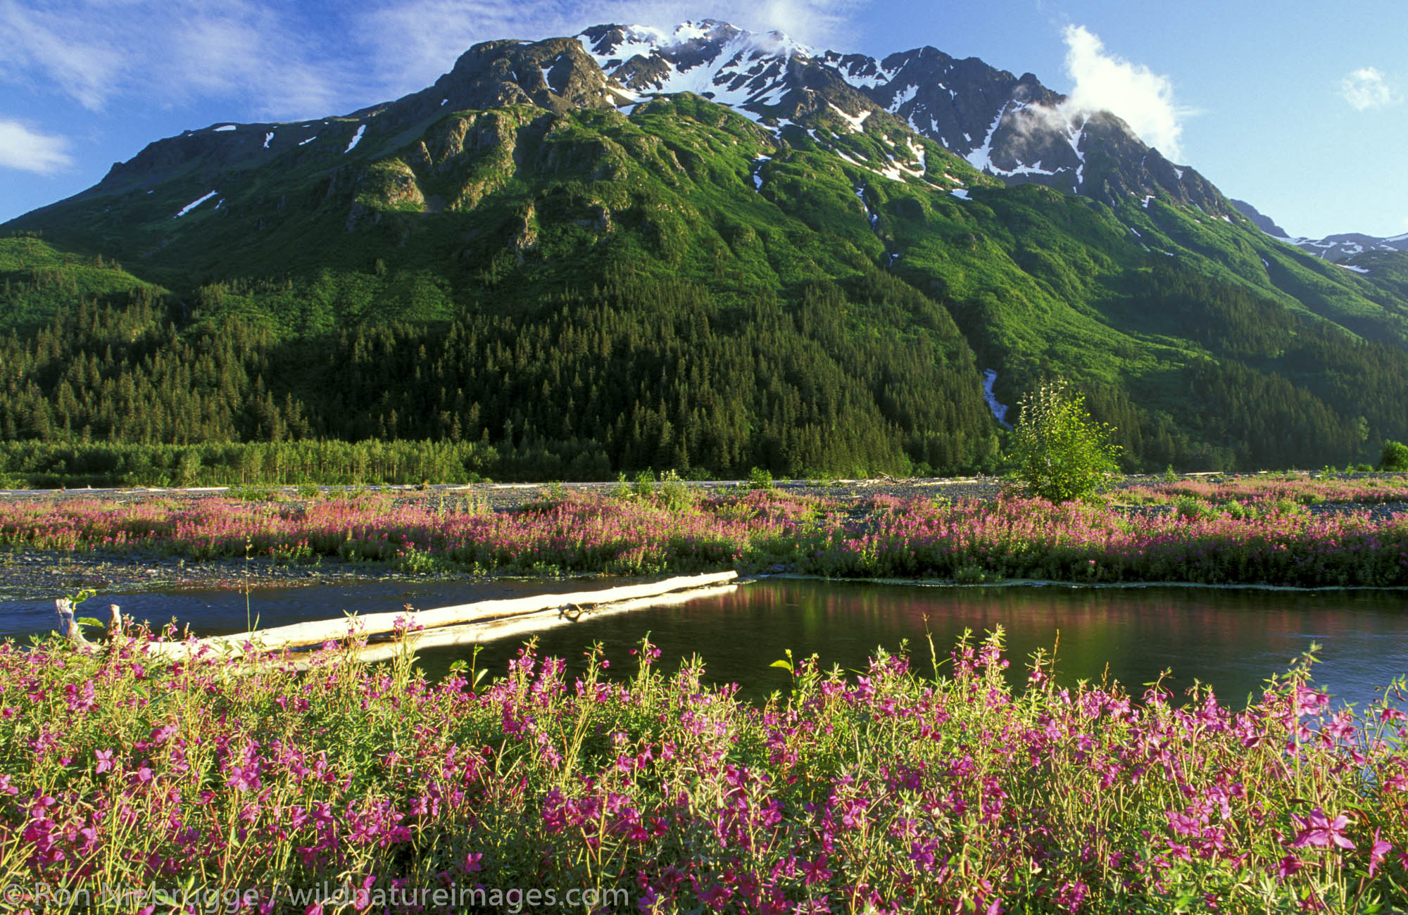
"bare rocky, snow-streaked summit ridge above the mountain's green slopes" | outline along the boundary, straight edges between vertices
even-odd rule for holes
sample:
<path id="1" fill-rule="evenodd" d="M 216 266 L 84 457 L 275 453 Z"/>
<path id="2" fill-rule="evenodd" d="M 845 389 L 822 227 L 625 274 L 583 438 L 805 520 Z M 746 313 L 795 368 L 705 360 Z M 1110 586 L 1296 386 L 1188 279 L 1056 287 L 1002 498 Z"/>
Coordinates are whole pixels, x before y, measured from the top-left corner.
<path id="1" fill-rule="evenodd" d="M 957 61 L 935 48 L 883 61 L 815 52 L 779 32 L 753 35 L 717 21 L 686 23 L 673 34 L 598 25 L 579 39 L 604 73 L 638 93 L 694 92 L 769 125 L 828 106 L 856 127 L 886 113 L 1007 184 L 1105 203 L 1167 196 L 1226 211 L 1207 180 L 1167 162 L 1119 118 L 1073 110 L 1033 75 L 1015 77 L 977 58 Z"/>

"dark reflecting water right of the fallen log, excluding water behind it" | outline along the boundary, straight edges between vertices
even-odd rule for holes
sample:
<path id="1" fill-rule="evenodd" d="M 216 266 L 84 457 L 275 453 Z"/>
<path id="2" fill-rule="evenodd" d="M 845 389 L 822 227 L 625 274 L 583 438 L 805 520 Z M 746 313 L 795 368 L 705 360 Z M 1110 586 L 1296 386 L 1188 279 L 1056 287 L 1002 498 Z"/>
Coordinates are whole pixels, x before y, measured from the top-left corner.
<path id="1" fill-rule="evenodd" d="M 1245 700 L 1271 673 L 1284 671 L 1312 642 L 1322 646 L 1318 680 L 1346 701 L 1408 673 L 1404 595 L 1391 591 L 1231 591 L 1209 588 L 935 588 L 870 583 L 769 580 L 684 607 L 587 619 L 539 636 L 543 653 L 569 660 L 600 640 L 620 666 L 649 631 L 666 660 L 700 655 L 717 683 L 739 683 L 759 698 L 786 688 L 769 669 L 791 649 L 829 669 L 863 669 L 876 646 L 910 642 L 915 666 L 931 664 L 931 633 L 942 660 L 964 629 L 981 635 L 1001 625 L 1017 669 L 1038 648 L 1059 642 L 1057 673 L 1066 683 L 1107 676 L 1124 684 L 1166 680 L 1183 690 L 1211 683 L 1224 701 Z M 497 671 L 517 650 L 490 645 L 480 666 Z M 428 653 L 439 667 L 449 650 Z M 453 656 L 463 656 L 455 650 Z"/>

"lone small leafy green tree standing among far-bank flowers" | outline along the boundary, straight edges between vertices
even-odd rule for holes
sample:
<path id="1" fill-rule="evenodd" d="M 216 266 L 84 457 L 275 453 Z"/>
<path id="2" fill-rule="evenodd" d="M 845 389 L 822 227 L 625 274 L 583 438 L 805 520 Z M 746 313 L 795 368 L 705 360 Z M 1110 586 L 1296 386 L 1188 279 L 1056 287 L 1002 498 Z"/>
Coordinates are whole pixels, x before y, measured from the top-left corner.
<path id="1" fill-rule="evenodd" d="M 1114 429 L 1090 418 L 1084 394 L 1053 381 L 1024 394 L 1019 408 L 1011 458 L 1029 494 L 1053 503 L 1086 498 L 1119 473 Z"/>

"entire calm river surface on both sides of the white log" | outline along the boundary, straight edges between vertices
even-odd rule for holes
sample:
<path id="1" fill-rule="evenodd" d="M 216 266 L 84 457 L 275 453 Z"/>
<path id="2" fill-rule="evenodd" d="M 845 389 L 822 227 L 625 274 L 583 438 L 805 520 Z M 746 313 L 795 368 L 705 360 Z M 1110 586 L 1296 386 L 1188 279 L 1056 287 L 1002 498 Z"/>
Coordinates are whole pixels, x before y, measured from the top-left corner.
<path id="1" fill-rule="evenodd" d="M 317 584 L 262 588 L 249 595 L 231 591 L 125 594 L 124 611 L 153 622 L 176 618 L 197 635 L 245 629 L 246 612 L 260 626 L 328 619 L 348 612 L 384 612 L 410 602 L 428 610 L 449 604 L 535 593 L 605 587 L 596 581 L 508 581 L 463 584 L 435 581 Z M 106 615 L 110 598 L 94 598 L 80 615 Z M 0 636 L 23 636 L 54 625 L 54 602 L 0 601 Z M 701 656 L 708 679 L 739 683 L 750 698 L 786 688 L 787 674 L 769 664 L 791 649 L 812 653 L 822 667 L 863 669 L 876 646 L 897 650 L 908 639 L 915 667 L 929 670 L 925 633 L 939 656 L 964 629 L 976 633 L 998 625 L 1007 631 L 1012 666 L 1038 648 L 1050 648 L 1060 633 L 1057 673 L 1063 681 L 1098 680 L 1107 674 L 1124 684 L 1166 680 L 1173 688 L 1194 679 L 1211 683 L 1224 698 L 1240 704 L 1267 676 L 1283 671 L 1312 642 L 1322 646 L 1316 680 L 1345 701 L 1363 702 L 1374 690 L 1408 673 L 1408 593 L 1404 591 L 1257 591 L 1181 587 L 959 588 L 853 581 L 769 579 L 732 594 L 704 597 L 680 607 L 662 607 L 551 628 L 539 633 L 543 655 L 580 667 L 593 642 L 605 646 L 612 673 L 634 670 L 629 650 L 646 632 L 663 652 L 666 670 L 691 655 Z M 521 639 L 483 646 L 479 666 L 498 674 Z M 424 652 L 424 666 L 442 673 L 469 648 Z"/>

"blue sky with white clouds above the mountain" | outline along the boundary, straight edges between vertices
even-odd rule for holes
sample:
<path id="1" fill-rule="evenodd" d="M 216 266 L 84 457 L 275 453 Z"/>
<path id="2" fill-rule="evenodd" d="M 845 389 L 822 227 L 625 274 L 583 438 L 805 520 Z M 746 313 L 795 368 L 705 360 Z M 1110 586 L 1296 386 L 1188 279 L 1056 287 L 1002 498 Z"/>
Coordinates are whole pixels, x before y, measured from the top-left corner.
<path id="1" fill-rule="evenodd" d="M 161 137 L 414 92 L 476 41 L 710 17 L 818 48 L 934 45 L 1029 70 L 1293 235 L 1408 232 L 1402 0 L 0 0 L 0 221 Z"/>

